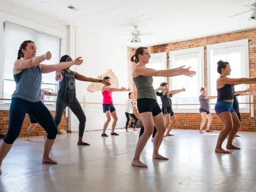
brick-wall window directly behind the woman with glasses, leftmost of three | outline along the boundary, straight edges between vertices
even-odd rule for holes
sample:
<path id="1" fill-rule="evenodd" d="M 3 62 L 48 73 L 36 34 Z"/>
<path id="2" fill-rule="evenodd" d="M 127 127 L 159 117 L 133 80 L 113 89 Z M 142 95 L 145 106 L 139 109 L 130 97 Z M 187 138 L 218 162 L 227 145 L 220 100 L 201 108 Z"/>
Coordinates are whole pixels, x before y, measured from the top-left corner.
<path id="1" fill-rule="evenodd" d="M 149 63 L 146 65 L 147 68 L 152 68 L 155 70 L 167 69 L 167 57 L 166 52 L 151 54 Z M 157 89 L 162 82 L 166 82 L 166 77 L 153 77 L 154 89 Z M 162 105 L 160 97 L 157 97 L 157 102 Z"/>

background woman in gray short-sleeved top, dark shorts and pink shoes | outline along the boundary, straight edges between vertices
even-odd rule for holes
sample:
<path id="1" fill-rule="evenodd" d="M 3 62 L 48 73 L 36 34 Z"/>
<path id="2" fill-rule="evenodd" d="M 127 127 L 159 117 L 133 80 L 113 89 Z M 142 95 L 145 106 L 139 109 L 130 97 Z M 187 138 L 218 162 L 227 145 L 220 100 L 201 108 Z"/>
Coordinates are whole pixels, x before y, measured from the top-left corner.
<path id="1" fill-rule="evenodd" d="M 200 124 L 199 133 L 204 133 L 203 128 L 206 123 L 206 119 L 208 119 L 206 132 L 213 132 L 210 130 L 210 126 L 212 123 L 212 114 L 210 113 L 209 99 L 215 99 L 217 98 L 217 96 L 207 95 L 204 87 L 201 87 L 200 92 L 201 92 L 201 95 L 199 95 L 199 103 L 200 103 L 199 113 L 202 116 L 202 122 Z"/>

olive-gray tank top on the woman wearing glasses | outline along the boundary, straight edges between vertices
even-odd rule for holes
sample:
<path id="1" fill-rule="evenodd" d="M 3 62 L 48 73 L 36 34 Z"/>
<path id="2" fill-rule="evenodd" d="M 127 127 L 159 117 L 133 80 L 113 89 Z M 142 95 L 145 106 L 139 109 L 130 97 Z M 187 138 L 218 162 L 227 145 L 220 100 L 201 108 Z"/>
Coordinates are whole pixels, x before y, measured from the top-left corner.
<path id="1" fill-rule="evenodd" d="M 133 77 L 133 81 L 137 88 L 137 98 L 148 98 L 156 100 L 156 92 L 153 87 L 153 77 L 151 76 L 138 76 Z"/>

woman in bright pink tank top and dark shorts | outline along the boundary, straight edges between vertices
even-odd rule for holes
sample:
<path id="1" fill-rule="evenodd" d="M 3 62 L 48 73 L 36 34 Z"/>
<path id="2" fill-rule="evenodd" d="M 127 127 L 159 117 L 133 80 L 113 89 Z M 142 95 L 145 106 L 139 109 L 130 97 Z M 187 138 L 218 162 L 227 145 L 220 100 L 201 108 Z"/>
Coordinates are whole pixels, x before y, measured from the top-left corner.
<path id="1" fill-rule="evenodd" d="M 106 79 L 108 83 L 111 83 L 110 77 L 104 77 L 103 79 Z M 102 107 L 103 107 L 103 113 L 105 113 L 106 117 L 107 117 L 107 121 L 104 123 L 104 126 L 103 126 L 103 131 L 101 134 L 102 137 L 108 137 L 108 135 L 106 134 L 106 130 L 107 130 L 108 124 L 111 120 L 111 116 L 113 118 L 111 135 L 118 135 L 115 132 L 115 127 L 116 127 L 116 123 L 117 123 L 117 115 L 116 115 L 116 109 L 113 105 L 113 100 L 112 100 L 112 92 L 113 91 L 130 91 L 130 89 L 126 89 L 125 87 L 118 89 L 118 88 L 113 88 L 113 87 L 106 86 L 106 85 L 102 87 L 102 89 L 101 89 L 101 92 L 103 95 Z"/>

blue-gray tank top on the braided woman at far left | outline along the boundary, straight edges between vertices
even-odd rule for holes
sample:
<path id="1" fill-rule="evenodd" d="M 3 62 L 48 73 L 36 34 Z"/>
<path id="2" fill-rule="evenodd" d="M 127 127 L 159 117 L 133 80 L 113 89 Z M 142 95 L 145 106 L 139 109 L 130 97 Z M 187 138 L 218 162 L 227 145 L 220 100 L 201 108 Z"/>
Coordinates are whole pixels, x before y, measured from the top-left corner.
<path id="1" fill-rule="evenodd" d="M 23 69 L 13 76 L 16 83 L 13 98 L 21 98 L 30 102 L 41 101 L 42 74 L 39 66 Z"/>

